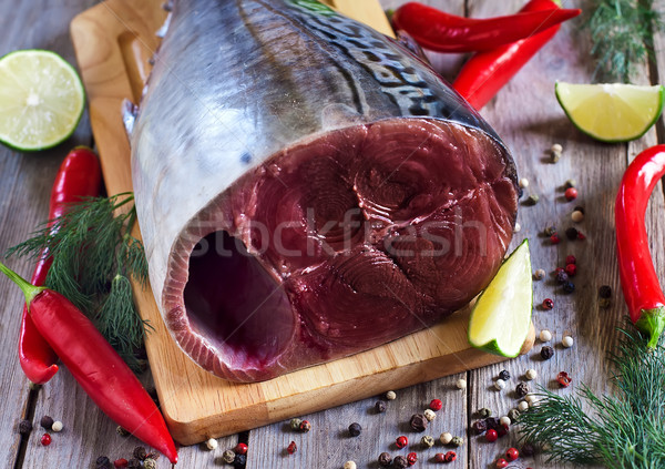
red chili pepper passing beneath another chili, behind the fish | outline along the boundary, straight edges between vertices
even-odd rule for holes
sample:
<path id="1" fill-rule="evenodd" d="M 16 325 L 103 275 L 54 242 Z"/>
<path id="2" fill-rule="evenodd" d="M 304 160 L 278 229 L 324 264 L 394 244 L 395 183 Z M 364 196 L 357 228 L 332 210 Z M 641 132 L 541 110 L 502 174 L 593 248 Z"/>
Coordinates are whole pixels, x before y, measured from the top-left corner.
<path id="1" fill-rule="evenodd" d="M 520 12 L 559 8 L 552 0 L 531 0 Z M 462 67 L 452 88 L 473 108 L 481 109 L 556 34 L 560 28 L 561 26 L 556 24 L 530 38 L 477 53 Z"/>

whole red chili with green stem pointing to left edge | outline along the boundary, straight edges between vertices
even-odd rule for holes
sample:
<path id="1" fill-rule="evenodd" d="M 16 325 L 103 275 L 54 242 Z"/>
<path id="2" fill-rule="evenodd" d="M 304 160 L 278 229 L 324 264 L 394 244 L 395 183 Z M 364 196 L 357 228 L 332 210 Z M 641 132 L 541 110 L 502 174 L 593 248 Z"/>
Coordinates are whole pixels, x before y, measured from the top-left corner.
<path id="1" fill-rule="evenodd" d="M 58 292 L 30 285 L 1 263 L 0 271 L 23 290 L 37 330 L 99 408 L 176 463 L 177 451 L 157 406 L 92 322 Z"/>

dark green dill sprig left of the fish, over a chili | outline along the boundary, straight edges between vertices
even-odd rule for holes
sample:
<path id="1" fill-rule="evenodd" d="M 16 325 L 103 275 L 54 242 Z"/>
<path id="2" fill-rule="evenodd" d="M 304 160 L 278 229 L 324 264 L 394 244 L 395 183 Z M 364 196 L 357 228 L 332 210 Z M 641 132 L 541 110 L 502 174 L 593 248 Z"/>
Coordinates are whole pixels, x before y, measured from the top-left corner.
<path id="1" fill-rule="evenodd" d="M 139 316 L 130 278 L 144 285 L 147 261 L 143 244 L 131 235 L 136 221 L 133 201 L 132 193 L 85 197 L 6 256 L 37 258 L 47 249 L 52 265 L 45 286 L 85 313 L 127 365 L 140 371 L 144 361 L 137 351 L 150 325 Z"/>

